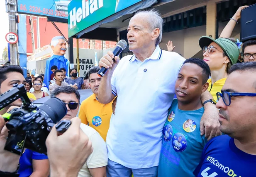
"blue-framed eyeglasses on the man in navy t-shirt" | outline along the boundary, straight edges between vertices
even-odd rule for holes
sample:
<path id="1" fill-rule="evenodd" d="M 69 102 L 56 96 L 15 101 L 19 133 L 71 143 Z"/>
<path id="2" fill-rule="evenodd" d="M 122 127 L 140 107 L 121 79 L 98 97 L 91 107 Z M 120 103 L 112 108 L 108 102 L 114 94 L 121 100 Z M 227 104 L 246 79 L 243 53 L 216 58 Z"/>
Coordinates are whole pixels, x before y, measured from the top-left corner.
<path id="1" fill-rule="evenodd" d="M 217 92 L 216 95 L 217 95 L 218 101 L 222 98 L 226 106 L 229 106 L 231 104 L 231 97 L 236 97 L 236 96 L 256 97 L 256 93 Z"/>

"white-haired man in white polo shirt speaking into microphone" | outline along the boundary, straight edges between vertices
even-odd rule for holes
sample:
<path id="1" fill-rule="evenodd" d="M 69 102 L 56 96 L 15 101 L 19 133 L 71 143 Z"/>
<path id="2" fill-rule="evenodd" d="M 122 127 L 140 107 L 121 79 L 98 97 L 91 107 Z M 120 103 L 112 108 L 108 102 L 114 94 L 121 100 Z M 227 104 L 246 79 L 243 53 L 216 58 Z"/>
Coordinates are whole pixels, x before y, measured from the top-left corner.
<path id="1" fill-rule="evenodd" d="M 175 94 L 175 81 L 185 59 L 161 50 L 163 20 L 152 10 L 138 12 L 129 21 L 127 38 L 132 56 L 119 57 L 109 51 L 99 62 L 109 68 L 102 77 L 98 100 L 107 104 L 116 96 L 107 133 L 108 177 L 156 177 L 161 135 Z M 202 95 L 202 102 L 212 99 Z M 205 104 L 200 125 L 206 137 L 219 135 L 218 111 Z M 204 132 L 205 130 L 205 132 Z"/>

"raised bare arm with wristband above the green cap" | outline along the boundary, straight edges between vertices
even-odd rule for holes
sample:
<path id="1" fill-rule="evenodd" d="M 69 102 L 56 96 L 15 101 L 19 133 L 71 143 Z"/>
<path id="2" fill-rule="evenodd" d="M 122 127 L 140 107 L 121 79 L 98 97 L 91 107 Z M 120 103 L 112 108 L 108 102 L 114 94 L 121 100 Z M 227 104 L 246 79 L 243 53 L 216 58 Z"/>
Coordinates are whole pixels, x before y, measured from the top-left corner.
<path id="1" fill-rule="evenodd" d="M 236 22 L 241 18 L 241 10 L 249 7 L 248 5 L 241 6 L 237 9 L 236 13 L 233 15 L 232 19 L 229 20 L 228 24 L 223 29 L 219 38 L 230 38 L 234 27 L 236 26 Z"/>

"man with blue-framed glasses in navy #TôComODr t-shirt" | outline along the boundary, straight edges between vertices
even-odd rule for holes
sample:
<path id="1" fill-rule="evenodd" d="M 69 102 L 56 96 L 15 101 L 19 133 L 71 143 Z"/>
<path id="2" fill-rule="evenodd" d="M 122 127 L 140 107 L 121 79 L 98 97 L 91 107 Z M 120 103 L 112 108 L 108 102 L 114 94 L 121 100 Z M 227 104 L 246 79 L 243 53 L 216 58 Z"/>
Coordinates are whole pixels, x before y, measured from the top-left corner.
<path id="1" fill-rule="evenodd" d="M 226 135 L 206 144 L 197 177 L 256 177 L 256 62 L 235 64 L 229 72 L 216 104 Z"/>

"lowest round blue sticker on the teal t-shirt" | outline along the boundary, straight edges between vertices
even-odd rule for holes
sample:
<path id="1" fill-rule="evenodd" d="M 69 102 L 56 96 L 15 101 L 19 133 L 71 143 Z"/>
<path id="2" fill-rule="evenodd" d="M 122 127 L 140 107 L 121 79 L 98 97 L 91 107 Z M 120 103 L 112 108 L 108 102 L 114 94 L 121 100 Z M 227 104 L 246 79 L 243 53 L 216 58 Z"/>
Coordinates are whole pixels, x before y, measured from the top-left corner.
<path id="1" fill-rule="evenodd" d="M 173 149 L 176 152 L 182 152 L 187 147 L 187 140 L 182 133 L 174 134 L 171 142 L 173 144 Z"/>

